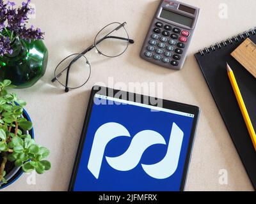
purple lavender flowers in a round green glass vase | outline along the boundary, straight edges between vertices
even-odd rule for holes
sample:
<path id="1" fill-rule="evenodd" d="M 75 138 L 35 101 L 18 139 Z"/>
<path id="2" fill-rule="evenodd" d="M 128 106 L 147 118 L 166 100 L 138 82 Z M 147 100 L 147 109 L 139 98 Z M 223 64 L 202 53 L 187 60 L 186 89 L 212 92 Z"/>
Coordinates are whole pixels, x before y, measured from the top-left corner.
<path id="1" fill-rule="evenodd" d="M 34 12 L 29 3 L 16 8 L 14 2 L 0 0 L 0 81 L 8 78 L 17 88 L 35 84 L 48 61 L 44 33 L 27 25 Z"/>

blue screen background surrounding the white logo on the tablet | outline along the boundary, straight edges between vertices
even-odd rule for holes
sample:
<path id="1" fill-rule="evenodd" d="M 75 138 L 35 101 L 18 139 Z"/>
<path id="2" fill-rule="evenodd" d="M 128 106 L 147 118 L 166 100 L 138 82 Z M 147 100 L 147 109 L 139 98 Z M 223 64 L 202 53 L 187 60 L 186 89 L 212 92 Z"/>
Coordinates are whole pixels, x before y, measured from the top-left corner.
<path id="1" fill-rule="evenodd" d="M 95 179 L 87 168 L 93 138 L 97 129 L 108 122 L 122 124 L 128 129 L 131 138 L 121 136 L 108 143 L 102 160 L 99 179 Z M 141 163 L 155 164 L 163 159 L 168 148 L 173 122 L 184 132 L 178 168 L 167 179 L 154 179 L 145 173 Z M 149 108 L 134 105 L 94 104 L 77 170 L 74 191 L 179 191 L 192 126 L 192 117 L 167 112 L 152 112 Z M 132 137 L 145 129 L 160 133 L 167 145 L 149 147 L 143 153 L 140 163 L 131 171 L 117 171 L 111 168 L 105 156 L 116 157 L 123 154 L 128 149 Z"/>

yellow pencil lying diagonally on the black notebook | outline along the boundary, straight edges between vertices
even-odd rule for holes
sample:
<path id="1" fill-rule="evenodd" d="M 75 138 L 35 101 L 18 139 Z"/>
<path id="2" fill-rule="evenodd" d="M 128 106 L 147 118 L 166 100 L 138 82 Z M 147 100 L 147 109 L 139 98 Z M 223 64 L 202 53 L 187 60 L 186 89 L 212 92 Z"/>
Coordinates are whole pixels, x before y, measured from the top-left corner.
<path id="1" fill-rule="evenodd" d="M 239 90 L 239 87 L 237 85 L 235 75 L 234 75 L 232 69 L 230 68 L 230 66 L 228 65 L 228 63 L 227 63 L 227 71 L 228 71 L 228 78 L 230 79 L 231 85 L 232 85 L 233 90 L 236 94 L 237 102 L 238 102 L 240 110 L 243 114 L 244 122 L 246 124 L 246 127 L 247 127 L 249 133 L 250 133 L 253 146 L 256 150 L 256 134 L 255 134 L 255 131 L 254 131 L 253 126 L 252 126 L 252 121 L 250 119 L 250 116 L 249 116 L 248 111 L 246 109 L 246 106 L 244 104 L 244 100 L 243 100 L 243 97 L 242 97 L 241 92 Z"/>

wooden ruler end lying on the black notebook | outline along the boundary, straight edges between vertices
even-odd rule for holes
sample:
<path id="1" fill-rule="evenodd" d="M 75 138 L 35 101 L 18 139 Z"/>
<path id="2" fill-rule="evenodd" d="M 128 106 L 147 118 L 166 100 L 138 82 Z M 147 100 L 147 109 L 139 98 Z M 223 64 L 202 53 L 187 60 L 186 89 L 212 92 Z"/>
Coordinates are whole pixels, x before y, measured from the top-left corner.
<path id="1" fill-rule="evenodd" d="M 256 78 L 256 45 L 253 41 L 247 38 L 231 55 Z"/>

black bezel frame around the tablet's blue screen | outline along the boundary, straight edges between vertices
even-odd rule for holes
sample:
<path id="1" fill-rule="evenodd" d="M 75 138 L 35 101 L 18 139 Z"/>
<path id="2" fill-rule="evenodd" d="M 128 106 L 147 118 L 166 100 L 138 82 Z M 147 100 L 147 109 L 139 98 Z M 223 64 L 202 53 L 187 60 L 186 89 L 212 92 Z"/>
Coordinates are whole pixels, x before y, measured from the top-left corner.
<path id="1" fill-rule="evenodd" d="M 70 183 L 68 186 L 68 191 L 74 190 L 74 184 L 76 182 L 77 170 L 79 168 L 79 163 L 81 160 L 81 156 L 83 154 L 84 140 L 86 138 L 87 128 L 88 128 L 88 124 L 89 124 L 91 113 L 92 113 L 94 96 L 95 96 L 95 94 L 100 94 L 103 96 L 110 96 L 110 97 L 117 98 L 116 93 L 118 93 L 118 96 L 127 96 L 127 98 L 126 98 L 127 101 L 131 101 L 131 99 L 133 99 L 132 102 L 138 102 L 138 101 L 134 101 L 134 99 L 141 98 L 141 101 L 147 101 L 147 105 L 157 106 L 157 104 L 155 104 L 155 103 L 154 104 L 150 103 L 150 101 L 155 102 L 157 100 L 157 98 L 152 98 L 150 96 L 144 96 L 141 94 L 134 94 L 131 92 L 126 92 L 126 91 L 120 91 L 120 90 L 116 90 L 116 89 L 110 89 L 108 87 L 93 86 L 92 92 L 90 94 L 88 108 L 86 111 L 86 116 L 84 119 L 83 130 L 82 130 L 81 137 L 79 140 L 76 159 L 74 162 L 74 167 L 72 170 L 72 175 L 71 175 Z M 133 97 L 131 97 L 131 96 L 133 96 Z M 120 98 L 120 99 L 122 99 L 122 98 Z M 184 164 L 182 180 L 180 183 L 180 191 L 184 191 L 184 187 L 186 186 L 186 178 L 188 175 L 189 163 L 190 163 L 190 159 L 191 159 L 191 151 L 193 149 L 193 143 L 195 140 L 195 133 L 196 133 L 196 128 L 197 128 L 197 124 L 198 124 L 198 118 L 200 115 L 200 108 L 198 108 L 197 106 L 187 105 L 184 103 L 178 103 L 178 102 L 168 101 L 168 100 L 164 100 L 164 99 L 160 99 L 160 100 L 163 101 L 163 105 L 161 106 L 161 108 L 167 108 L 170 110 L 176 110 L 179 112 L 191 113 L 191 114 L 195 115 L 194 120 L 193 120 L 193 126 L 191 129 L 191 135 L 190 135 L 190 139 L 189 139 L 188 152 L 187 152 L 186 161 Z M 141 103 L 143 103 L 143 102 L 141 102 Z"/>

